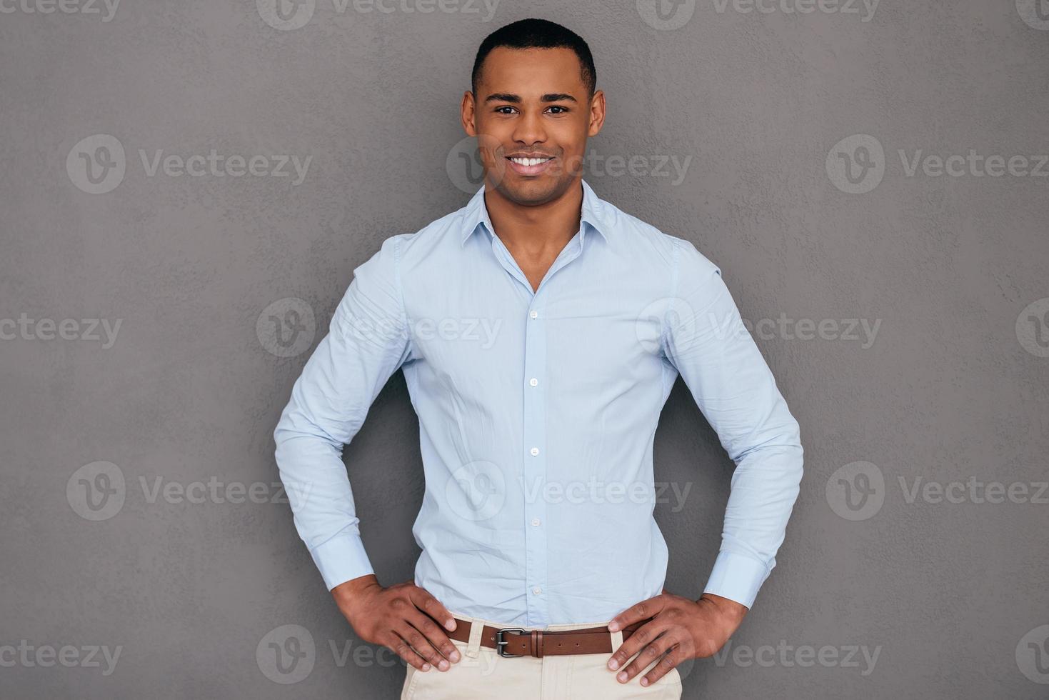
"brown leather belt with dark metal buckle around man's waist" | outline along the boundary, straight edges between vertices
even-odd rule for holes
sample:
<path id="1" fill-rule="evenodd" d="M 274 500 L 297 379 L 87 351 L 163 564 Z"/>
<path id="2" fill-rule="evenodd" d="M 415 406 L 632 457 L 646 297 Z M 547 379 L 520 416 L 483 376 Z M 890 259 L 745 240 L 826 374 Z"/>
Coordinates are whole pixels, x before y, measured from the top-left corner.
<path id="1" fill-rule="evenodd" d="M 642 624 L 652 618 L 623 628 L 625 641 Z M 470 641 L 471 622 L 455 618 L 455 630 L 447 632 L 449 639 Z M 526 630 L 523 628 L 493 628 L 486 624 L 480 631 L 480 645 L 494 649 L 499 656 L 557 656 L 560 654 L 611 654 L 612 633 L 606 625 L 582 630 Z"/>

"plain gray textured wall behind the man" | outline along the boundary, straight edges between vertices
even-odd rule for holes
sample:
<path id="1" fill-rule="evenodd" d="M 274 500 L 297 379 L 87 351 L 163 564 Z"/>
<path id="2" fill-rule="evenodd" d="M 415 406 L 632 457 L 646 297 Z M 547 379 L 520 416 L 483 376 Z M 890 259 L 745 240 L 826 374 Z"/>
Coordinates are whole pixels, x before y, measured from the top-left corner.
<path id="1" fill-rule="evenodd" d="M 685 696 L 1049 696 L 1049 1 L 383 6 L 0 0 L 0 697 L 395 696 L 272 430 L 352 269 L 468 198 L 473 54 L 529 16 L 594 49 L 588 182 L 722 267 L 801 423 Z M 399 373 L 345 452 L 386 584 L 418 439 Z M 680 382 L 656 460 L 698 596 L 731 463 Z"/>

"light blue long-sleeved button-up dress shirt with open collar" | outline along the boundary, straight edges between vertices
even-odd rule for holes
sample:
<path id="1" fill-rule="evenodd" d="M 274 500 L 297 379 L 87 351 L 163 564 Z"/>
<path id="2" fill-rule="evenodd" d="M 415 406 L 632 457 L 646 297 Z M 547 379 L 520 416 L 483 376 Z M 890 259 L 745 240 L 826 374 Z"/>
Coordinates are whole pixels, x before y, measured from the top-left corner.
<path id="1" fill-rule="evenodd" d="M 753 603 L 798 493 L 797 421 L 721 270 L 582 189 L 579 231 L 538 291 L 494 235 L 485 188 L 354 271 L 274 431 L 328 589 L 373 573 L 341 450 L 401 367 L 426 479 L 418 586 L 528 627 L 600 622 L 659 595 L 652 441 L 680 373 L 736 465 L 704 590 Z"/>

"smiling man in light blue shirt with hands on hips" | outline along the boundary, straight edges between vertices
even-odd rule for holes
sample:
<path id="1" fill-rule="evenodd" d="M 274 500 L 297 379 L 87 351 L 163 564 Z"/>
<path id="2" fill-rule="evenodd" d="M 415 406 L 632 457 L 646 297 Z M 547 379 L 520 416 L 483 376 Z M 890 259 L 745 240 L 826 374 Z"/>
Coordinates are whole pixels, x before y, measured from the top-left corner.
<path id="1" fill-rule="evenodd" d="M 680 698 L 675 666 L 740 625 L 798 493 L 798 424 L 721 270 L 582 181 L 595 80 L 552 22 L 484 41 L 462 103 L 483 188 L 355 270 L 274 432 L 296 527 L 354 630 L 407 662 L 402 698 Z M 399 367 L 423 551 L 413 581 L 383 587 L 340 450 Z M 663 591 L 652 517 L 679 374 L 736 465 L 699 599 Z"/>

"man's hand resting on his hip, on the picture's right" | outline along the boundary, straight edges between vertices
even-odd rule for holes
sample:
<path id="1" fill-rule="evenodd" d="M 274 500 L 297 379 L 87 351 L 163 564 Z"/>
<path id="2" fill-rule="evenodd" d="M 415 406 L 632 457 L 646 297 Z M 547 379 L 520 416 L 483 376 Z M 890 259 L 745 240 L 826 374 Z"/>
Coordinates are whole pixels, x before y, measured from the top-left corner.
<path id="1" fill-rule="evenodd" d="M 652 618 L 623 641 L 608 660 L 608 669 L 621 667 L 637 654 L 637 658 L 616 675 L 616 680 L 627 683 L 665 654 L 641 678 L 642 685 L 650 685 L 682 661 L 716 654 L 743 622 L 747 611 L 746 606 L 712 593 L 690 600 L 664 589 L 661 595 L 642 600 L 608 621 L 608 630 L 616 632 L 627 624 Z"/>

